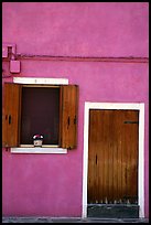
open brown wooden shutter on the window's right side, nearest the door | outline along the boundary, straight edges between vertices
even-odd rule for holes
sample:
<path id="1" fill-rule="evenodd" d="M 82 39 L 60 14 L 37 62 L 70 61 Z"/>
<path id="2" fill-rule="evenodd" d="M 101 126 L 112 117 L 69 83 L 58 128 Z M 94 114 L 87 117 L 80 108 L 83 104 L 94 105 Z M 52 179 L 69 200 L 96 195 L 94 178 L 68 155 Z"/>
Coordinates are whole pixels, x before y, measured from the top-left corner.
<path id="1" fill-rule="evenodd" d="M 62 148 L 75 149 L 77 146 L 77 106 L 78 86 L 61 86 L 60 146 Z"/>

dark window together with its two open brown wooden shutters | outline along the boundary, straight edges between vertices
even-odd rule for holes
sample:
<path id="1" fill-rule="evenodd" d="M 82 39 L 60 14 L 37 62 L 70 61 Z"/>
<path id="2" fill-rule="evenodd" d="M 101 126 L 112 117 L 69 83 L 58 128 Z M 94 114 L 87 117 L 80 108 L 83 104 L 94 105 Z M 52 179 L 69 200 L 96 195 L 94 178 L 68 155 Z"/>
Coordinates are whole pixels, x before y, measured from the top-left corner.
<path id="1" fill-rule="evenodd" d="M 41 133 L 44 146 L 76 148 L 77 100 L 77 85 L 6 83 L 2 146 L 33 144 L 33 135 Z"/>

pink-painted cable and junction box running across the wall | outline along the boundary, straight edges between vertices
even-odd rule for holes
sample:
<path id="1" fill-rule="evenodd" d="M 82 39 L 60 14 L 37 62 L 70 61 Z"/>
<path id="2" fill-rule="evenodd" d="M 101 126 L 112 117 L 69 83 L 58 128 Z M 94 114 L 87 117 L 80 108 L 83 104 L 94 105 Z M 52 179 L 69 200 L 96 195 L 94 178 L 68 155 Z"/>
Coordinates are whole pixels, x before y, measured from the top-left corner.
<path id="1" fill-rule="evenodd" d="M 14 45 L 14 44 L 13 44 Z M 72 56 L 72 55 L 35 55 L 35 54 L 17 54 L 15 45 L 8 45 L 8 55 L 2 58 L 3 62 L 10 63 L 10 69 L 7 72 L 2 68 L 2 78 L 12 77 L 20 73 L 20 61 L 66 61 L 66 62 L 108 62 L 108 63 L 149 63 L 148 57 L 104 57 L 104 56 Z"/>

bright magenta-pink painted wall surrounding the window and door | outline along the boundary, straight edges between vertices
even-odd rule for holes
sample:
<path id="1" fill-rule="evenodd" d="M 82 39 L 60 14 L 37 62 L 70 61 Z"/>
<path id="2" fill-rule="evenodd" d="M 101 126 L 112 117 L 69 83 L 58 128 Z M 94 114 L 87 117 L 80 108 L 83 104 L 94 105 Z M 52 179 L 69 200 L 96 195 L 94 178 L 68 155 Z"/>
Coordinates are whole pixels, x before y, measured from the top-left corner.
<path id="1" fill-rule="evenodd" d="M 3 2 L 2 41 L 17 44 L 18 54 L 148 57 L 148 20 L 145 2 Z M 148 217 L 148 63 L 21 60 L 21 73 L 12 77 L 68 78 L 79 85 L 78 147 L 67 154 L 11 154 L 3 149 L 3 215 L 82 216 L 84 104 L 114 101 L 145 106 Z"/>

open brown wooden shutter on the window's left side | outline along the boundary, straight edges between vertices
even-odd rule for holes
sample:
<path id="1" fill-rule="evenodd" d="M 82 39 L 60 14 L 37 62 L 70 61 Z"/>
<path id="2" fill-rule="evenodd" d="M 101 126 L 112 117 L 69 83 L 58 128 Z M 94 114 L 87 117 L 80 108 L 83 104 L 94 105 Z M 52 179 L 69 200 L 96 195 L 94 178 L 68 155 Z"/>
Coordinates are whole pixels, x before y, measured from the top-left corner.
<path id="1" fill-rule="evenodd" d="M 20 137 L 21 85 L 6 83 L 3 90 L 2 147 L 18 147 Z"/>

